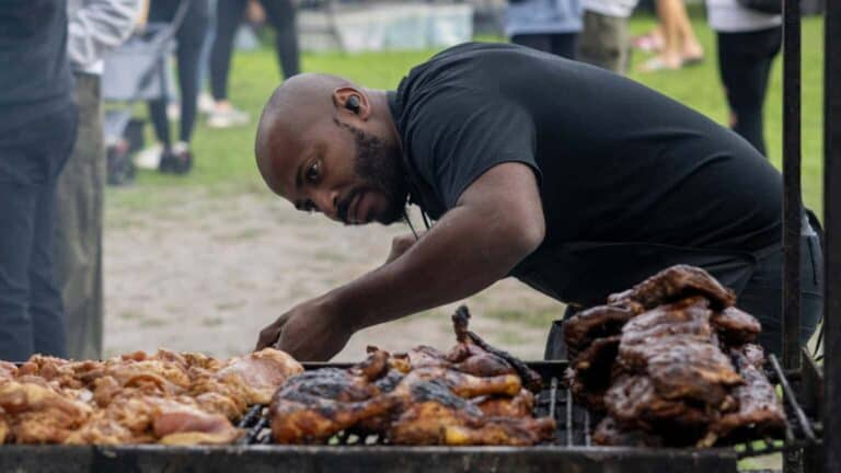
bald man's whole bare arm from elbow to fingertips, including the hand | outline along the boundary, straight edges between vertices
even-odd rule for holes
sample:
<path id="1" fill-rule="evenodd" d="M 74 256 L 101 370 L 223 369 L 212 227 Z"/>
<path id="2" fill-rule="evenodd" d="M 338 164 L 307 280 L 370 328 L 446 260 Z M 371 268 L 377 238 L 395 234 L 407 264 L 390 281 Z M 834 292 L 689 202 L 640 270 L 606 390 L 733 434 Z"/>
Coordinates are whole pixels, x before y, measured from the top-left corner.
<path id="1" fill-rule="evenodd" d="M 544 233 L 534 172 L 498 164 L 404 254 L 285 313 L 261 332 L 257 348 L 277 339 L 299 359 L 329 359 L 360 328 L 463 299 L 504 278 Z"/>

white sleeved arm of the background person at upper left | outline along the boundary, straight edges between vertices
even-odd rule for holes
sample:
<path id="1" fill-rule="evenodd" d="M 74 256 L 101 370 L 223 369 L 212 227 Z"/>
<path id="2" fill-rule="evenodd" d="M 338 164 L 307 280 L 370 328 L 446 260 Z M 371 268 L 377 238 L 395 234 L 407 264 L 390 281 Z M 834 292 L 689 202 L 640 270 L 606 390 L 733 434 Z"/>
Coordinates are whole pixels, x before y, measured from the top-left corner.
<path id="1" fill-rule="evenodd" d="M 119 46 L 134 30 L 140 0 L 88 0 L 68 18 L 67 53 L 74 67 L 87 68 Z"/>

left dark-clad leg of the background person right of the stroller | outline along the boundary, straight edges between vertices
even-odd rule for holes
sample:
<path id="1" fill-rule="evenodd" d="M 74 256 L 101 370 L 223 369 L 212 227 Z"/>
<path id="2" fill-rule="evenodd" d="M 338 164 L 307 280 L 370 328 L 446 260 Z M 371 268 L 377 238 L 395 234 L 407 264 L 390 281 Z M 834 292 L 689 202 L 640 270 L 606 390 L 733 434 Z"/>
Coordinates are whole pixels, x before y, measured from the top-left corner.
<path id="1" fill-rule="evenodd" d="M 217 102 L 228 100 L 233 37 L 244 10 L 245 0 L 218 0 L 216 4 L 216 38 L 210 50 L 210 89 Z"/>

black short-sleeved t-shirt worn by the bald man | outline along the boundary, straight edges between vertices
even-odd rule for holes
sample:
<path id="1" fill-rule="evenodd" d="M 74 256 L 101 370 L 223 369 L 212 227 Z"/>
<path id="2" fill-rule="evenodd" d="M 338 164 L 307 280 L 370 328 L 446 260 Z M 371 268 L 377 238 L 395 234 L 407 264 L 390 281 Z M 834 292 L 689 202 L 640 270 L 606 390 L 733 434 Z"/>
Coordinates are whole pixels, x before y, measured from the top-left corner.
<path id="1" fill-rule="evenodd" d="M 512 274 L 579 303 L 675 263 L 777 244 L 780 173 L 705 116 L 614 73 L 515 45 L 464 44 L 391 95 L 412 197 L 433 218 L 503 162 L 534 170 L 542 245 Z"/>

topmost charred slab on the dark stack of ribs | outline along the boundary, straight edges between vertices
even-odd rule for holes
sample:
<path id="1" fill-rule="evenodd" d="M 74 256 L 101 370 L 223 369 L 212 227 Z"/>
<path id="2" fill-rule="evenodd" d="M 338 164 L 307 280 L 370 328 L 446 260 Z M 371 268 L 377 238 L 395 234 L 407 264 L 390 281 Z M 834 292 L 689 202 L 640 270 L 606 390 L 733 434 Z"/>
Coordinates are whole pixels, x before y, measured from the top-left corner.
<path id="1" fill-rule="evenodd" d="M 715 309 L 736 303 L 736 295 L 730 289 L 722 286 L 707 272 L 687 265 L 671 266 L 626 291 L 610 295 L 608 303 L 623 307 L 638 304 L 647 310 L 690 296 L 706 297 Z"/>

